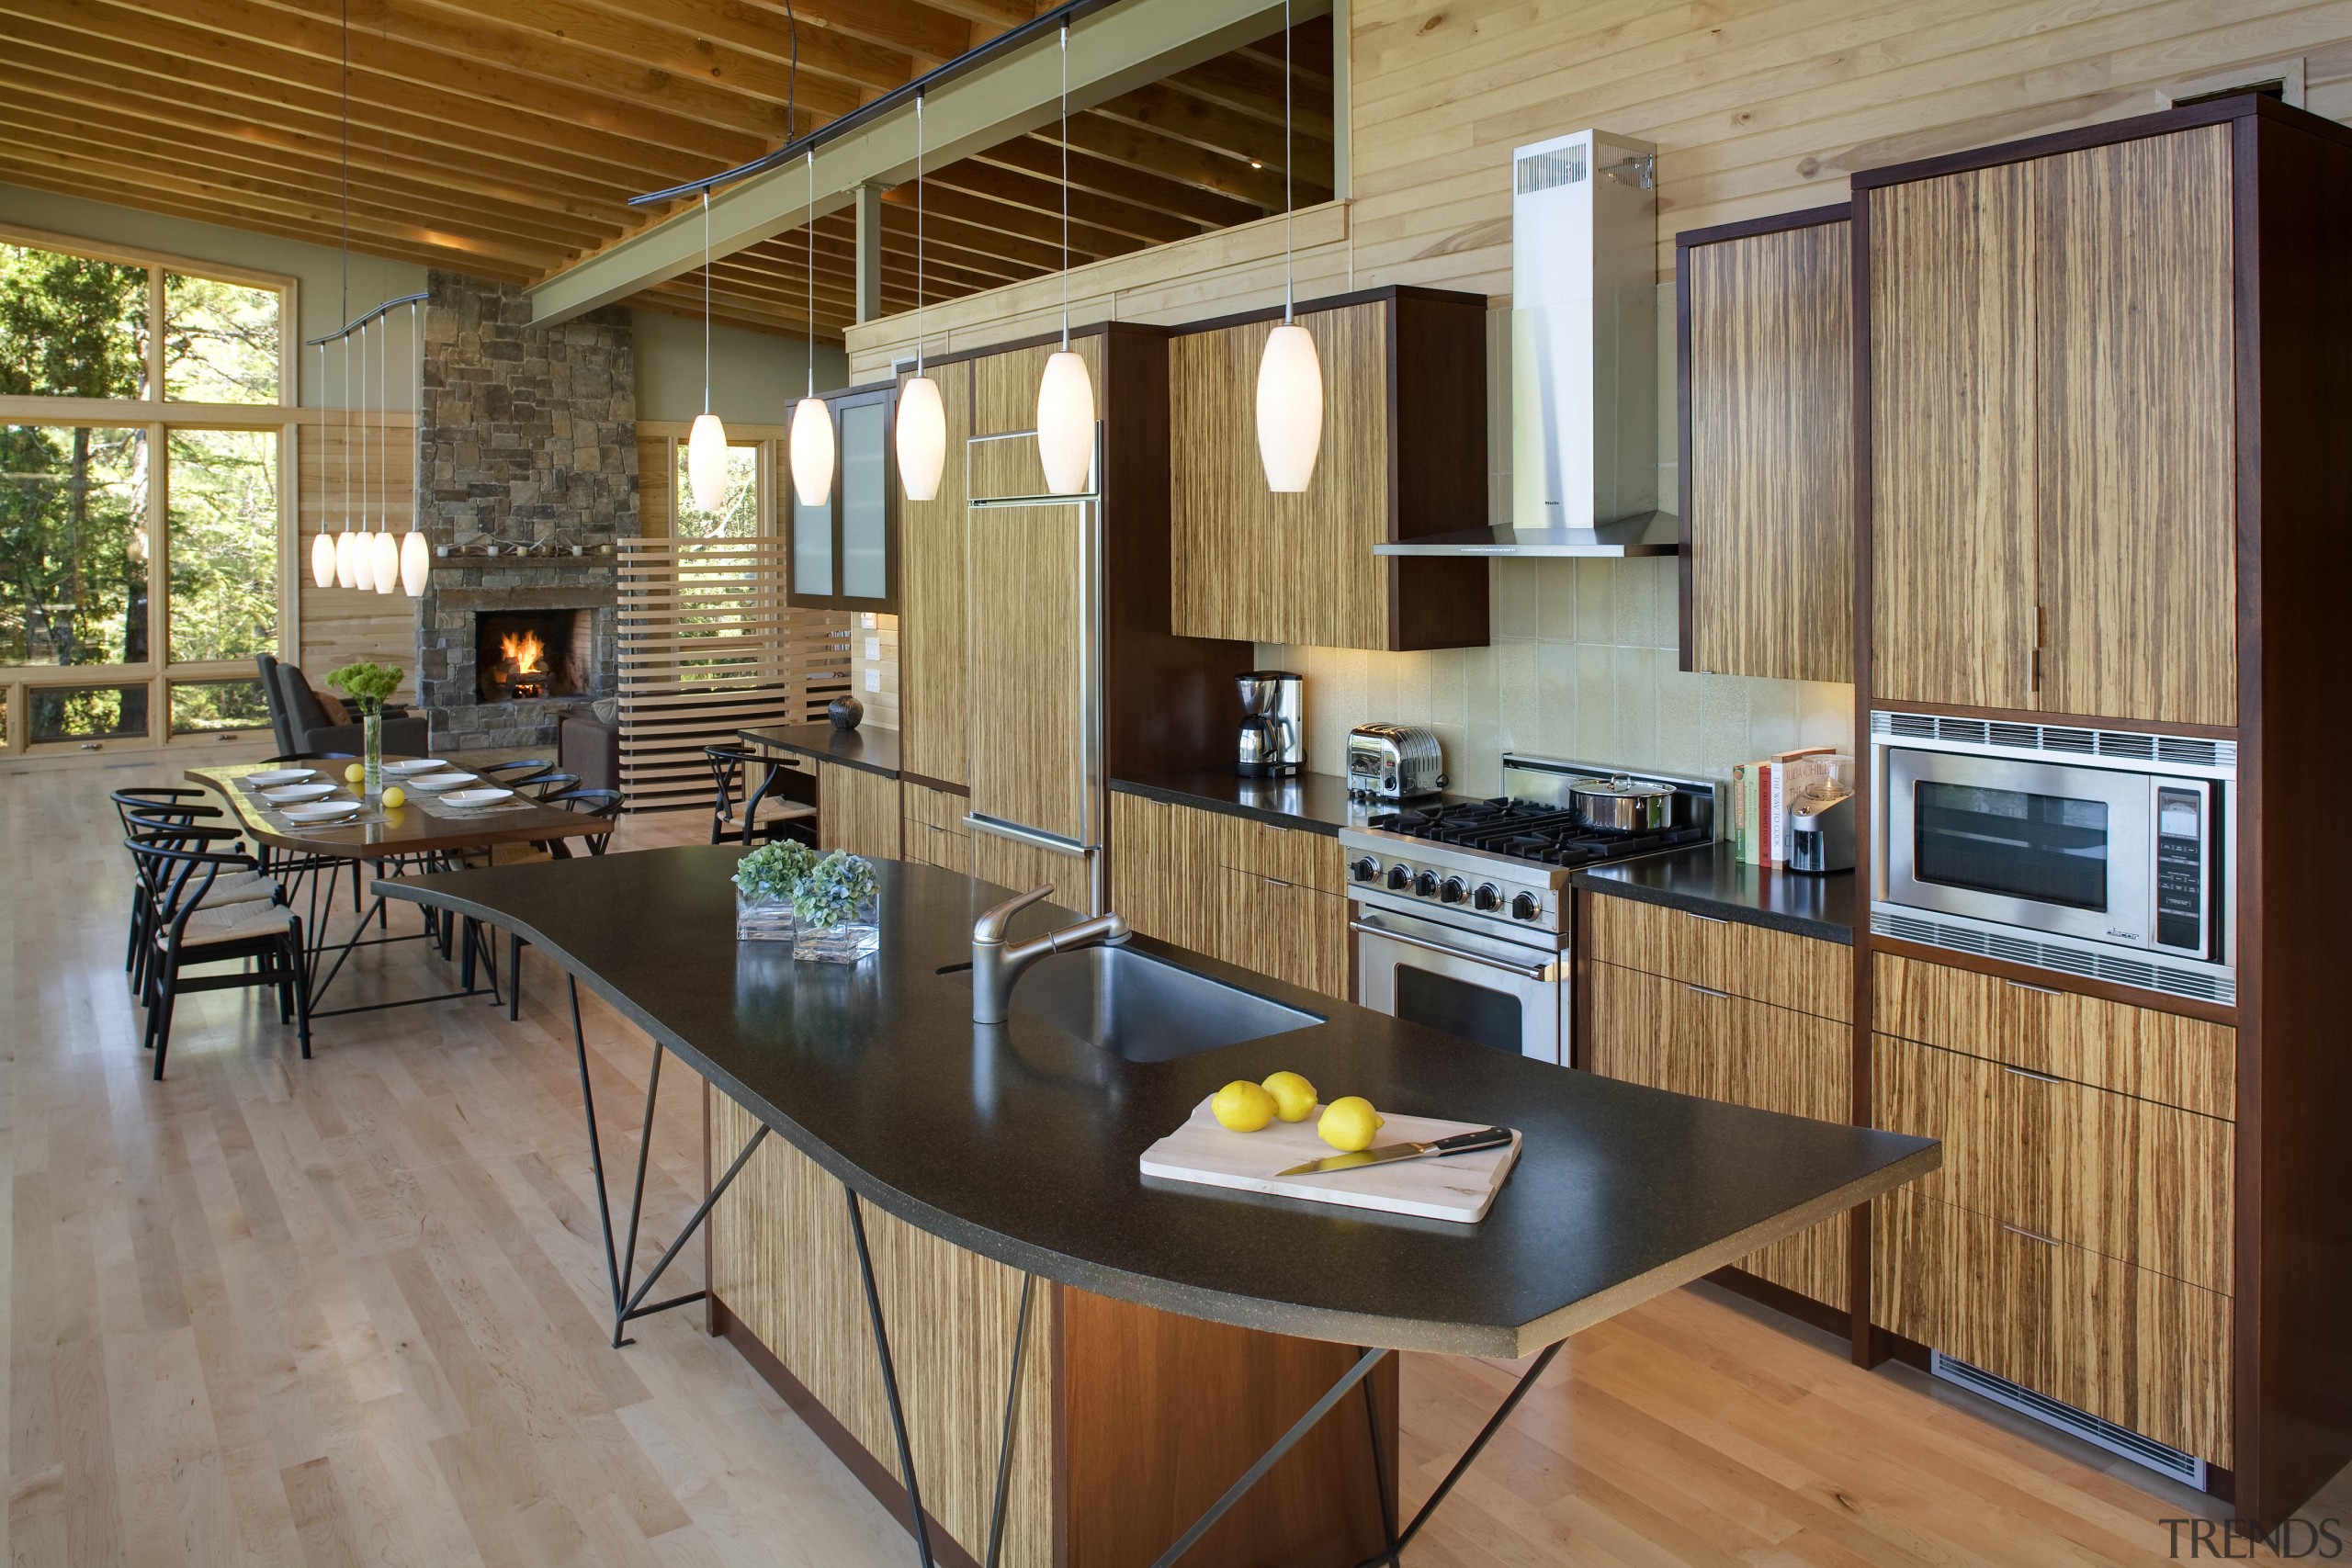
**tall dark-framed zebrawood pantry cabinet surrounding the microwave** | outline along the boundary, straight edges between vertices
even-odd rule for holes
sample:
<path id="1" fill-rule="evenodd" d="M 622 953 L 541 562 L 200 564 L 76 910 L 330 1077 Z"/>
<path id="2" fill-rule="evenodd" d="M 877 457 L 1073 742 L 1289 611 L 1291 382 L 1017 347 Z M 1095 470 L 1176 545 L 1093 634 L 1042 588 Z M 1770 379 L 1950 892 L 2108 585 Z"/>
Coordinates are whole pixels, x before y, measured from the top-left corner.
<path id="1" fill-rule="evenodd" d="M 1863 733 L 2234 743 L 2239 844 L 2234 1006 L 1856 931 L 1856 1112 L 1945 1140 L 1858 1338 L 2281 1519 L 2352 1460 L 2352 132 L 2249 94 L 1872 169 L 1853 275 Z"/>

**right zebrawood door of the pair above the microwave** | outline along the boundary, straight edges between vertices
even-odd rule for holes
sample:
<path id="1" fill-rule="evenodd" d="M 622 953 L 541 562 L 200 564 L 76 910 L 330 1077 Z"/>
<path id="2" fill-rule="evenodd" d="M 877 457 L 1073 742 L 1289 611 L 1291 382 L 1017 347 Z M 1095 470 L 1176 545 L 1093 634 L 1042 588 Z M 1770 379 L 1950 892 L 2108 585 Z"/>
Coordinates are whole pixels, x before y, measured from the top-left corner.
<path id="1" fill-rule="evenodd" d="M 2237 724 L 2230 129 L 2042 160 L 2039 708 Z"/>

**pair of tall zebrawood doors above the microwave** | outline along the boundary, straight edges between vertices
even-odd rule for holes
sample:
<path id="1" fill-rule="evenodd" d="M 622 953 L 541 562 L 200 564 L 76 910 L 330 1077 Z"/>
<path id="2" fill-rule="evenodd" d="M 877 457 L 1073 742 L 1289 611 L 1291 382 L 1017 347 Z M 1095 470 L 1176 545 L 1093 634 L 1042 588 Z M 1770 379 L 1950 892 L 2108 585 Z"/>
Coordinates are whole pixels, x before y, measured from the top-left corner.
<path id="1" fill-rule="evenodd" d="M 1872 701 L 2237 724 L 2230 132 L 1858 186 Z"/>

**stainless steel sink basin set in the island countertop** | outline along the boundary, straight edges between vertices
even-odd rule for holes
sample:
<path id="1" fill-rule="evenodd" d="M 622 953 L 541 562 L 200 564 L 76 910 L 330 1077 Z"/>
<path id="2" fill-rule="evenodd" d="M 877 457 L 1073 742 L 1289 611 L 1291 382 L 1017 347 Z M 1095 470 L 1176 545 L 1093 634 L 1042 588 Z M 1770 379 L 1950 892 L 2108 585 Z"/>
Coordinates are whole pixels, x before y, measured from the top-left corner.
<path id="1" fill-rule="evenodd" d="M 953 973 L 971 985 L 969 969 Z M 1315 1013 L 1127 947 L 1080 947 L 1037 959 L 1014 985 L 1011 1011 L 1131 1063 L 1171 1063 L 1322 1023 Z"/>

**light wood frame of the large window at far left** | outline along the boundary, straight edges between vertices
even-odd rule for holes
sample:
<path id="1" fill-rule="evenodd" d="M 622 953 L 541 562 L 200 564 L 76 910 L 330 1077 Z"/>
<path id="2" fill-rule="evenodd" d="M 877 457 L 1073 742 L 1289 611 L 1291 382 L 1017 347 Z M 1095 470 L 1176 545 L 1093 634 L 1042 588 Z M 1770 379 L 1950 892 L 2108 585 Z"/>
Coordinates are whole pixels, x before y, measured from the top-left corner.
<path id="1" fill-rule="evenodd" d="M 278 435 L 278 646 L 280 661 L 301 661 L 301 428 L 320 423 L 322 409 L 301 407 L 301 282 L 285 273 L 172 256 L 129 244 L 108 244 L 38 228 L 0 223 L 0 244 L 61 252 L 115 266 L 148 270 L 146 383 L 153 397 L 42 397 L 0 395 L 0 423 L 49 428 L 143 430 L 148 440 L 151 482 L 146 494 L 148 536 L 148 658 L 111 665 L 0 665 L 0 701 L 7 703 L 7 736 L 0 759 L 73 757 L 106 750 L 191 750 L 249 743 L 266 729 L 214 729 L 172 733 L 172 684 L 256 679 L 252 658 L 172 661 L 172 430 L 263 430 Z M 247 289 L 278 294 L 278 402 L 183 402 L 167 400 L 165 388 L 165 273 L 183 273 Z M 33 693 L 59 686 L 139 686 L 148 689 L 148 729 L 143 738 L 111 736 L 106 741 L 33 741 Z M 273 748 L 275 750 L 275 748 Z"/>

